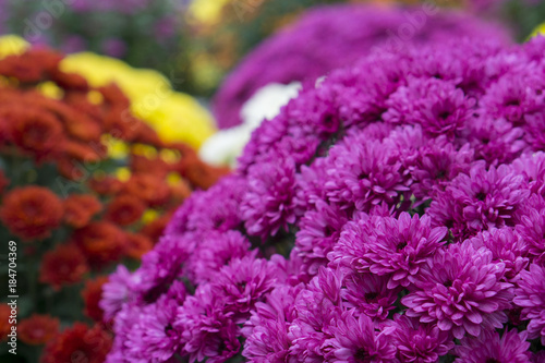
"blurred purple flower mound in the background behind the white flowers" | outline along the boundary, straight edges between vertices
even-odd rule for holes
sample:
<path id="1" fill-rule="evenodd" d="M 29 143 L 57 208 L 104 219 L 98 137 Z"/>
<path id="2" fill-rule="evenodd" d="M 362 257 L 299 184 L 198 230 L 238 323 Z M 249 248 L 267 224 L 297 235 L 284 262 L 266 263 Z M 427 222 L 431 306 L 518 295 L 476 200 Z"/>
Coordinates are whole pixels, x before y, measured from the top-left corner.
<path id="1" fill-rule="evenodd" d="M 214 99 L 220 128 L 241 123 L 240 110 L 256 90 L 269 83 L 289 84 L 323 76 L 352 64 L 374 47 L 405 41 L 424 44 L 458 36 L 508 41 L 505 28 L 467 13 L 415 7 L 318 7 L 295 24 L 266 39 L 226 78 Z"/>

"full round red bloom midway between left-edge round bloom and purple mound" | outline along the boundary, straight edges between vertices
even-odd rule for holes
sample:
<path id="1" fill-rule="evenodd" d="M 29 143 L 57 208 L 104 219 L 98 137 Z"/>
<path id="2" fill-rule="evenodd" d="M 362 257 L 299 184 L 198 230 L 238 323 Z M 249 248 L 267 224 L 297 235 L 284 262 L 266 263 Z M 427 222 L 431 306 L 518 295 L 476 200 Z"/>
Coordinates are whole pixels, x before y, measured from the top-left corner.
<path id="1" fill-rule="evenodd" d="M 118 261 L 125 250 L 123 232 L 106 221 L 92 222 L 75 230 L 72 240 L 95 265 Z"/>

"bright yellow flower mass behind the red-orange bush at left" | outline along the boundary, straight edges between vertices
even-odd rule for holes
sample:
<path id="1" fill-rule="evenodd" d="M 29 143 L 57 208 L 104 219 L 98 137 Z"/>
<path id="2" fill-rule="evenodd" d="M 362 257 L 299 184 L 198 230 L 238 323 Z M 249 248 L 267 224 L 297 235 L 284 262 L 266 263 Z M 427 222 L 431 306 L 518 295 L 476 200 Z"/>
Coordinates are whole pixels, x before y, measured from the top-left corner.
<path id="1" fill-rule="evenodd" d="M 20 37 L 0 37 L 0 58 L 21 53 L 27 47 Z M 83 75 L 94 87 L 116 82 L 130 98 L 134 114 L 154 128 L 164 141 L 184 142 L 198 148 L 216 132 L 210 113 L 193 97 L 174 92 L 159 72 L 134 69 L 118 59 L 92 52 L 66 56 L 61 69 Z M 48 87 L 43 92 L 51 97 L 57 95 Z"/>

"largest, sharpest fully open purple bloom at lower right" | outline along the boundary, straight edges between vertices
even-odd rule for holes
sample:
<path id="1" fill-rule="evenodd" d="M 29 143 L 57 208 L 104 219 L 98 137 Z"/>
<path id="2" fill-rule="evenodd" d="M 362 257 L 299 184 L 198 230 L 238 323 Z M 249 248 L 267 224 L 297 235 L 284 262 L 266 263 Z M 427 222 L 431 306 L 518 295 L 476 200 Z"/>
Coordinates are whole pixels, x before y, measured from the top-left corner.
<path id="1" fill-rule="evenodd" d="M 407 316 L 437 324 L 461 339 L 483 330 L 500 328 L 507 322 L 512 285 L 501 282 L 505 264 L 494 263 L 486 247 L 471 243 L 438 250 L 416 276 L 414 288 L 401 300 Z"/>

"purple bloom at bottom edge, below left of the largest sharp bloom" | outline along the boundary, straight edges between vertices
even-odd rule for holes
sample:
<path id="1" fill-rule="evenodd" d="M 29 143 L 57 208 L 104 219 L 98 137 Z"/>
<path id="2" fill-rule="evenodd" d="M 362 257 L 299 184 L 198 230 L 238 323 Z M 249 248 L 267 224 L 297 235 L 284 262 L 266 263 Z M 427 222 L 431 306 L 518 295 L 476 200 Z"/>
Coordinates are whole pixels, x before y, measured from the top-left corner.
<path id="1" fill-rule="evenodd" d="M 455 346 L 447 331 L 404 315 L 396 315 L 391 327 L 400 362 L 434 363 Z"/>

